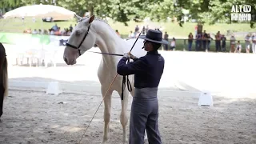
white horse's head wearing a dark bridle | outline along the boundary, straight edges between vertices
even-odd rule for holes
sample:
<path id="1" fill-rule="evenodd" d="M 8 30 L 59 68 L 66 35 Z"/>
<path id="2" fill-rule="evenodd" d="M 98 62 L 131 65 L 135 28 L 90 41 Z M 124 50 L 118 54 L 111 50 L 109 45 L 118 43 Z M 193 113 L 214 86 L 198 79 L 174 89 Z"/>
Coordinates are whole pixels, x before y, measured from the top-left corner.
<path id="1" fill-rule="evenodd" d="M 63 59 L 67 65 L 74 65 L 76 59 L 94 46 L 96 41 L 95 30 L 91 26 L 94 21 L 94 15 L 90 18 L 78 18 L 78 24 L 70 34 L 70 38 L 66 43 Z"/>

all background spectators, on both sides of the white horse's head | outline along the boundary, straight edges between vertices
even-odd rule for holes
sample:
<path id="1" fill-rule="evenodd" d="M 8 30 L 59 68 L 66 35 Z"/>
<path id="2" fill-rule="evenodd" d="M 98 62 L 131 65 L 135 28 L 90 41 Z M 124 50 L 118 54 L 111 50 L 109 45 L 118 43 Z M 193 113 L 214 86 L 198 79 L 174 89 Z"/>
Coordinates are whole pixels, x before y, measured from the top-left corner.
<path id="1" fill-rule="evenodd" d="M 50 34 L 50 35 L 58 35 L 58 36 L 70 36 L 73 26 L 70 25 L 69 28 L 65 28 L 64 30 L 61 30 L 57 24 L 52 26 L 49 30 L 24 30 L 24 33 L 28 34 Z M 130 34 L 128 35 L 128 38 L 138 38 L 138 34 L 140 34 L 140 31 L 142 32 L 142 35 L 145 35 L 146 32 L 149 30 L 149 26 L 142 26 L 141 30 L 137 26 L 134 28 L 134 32 L 130 30 Z M 155 30 L 159 30 L 158 28 Z M 119 37 L 121 35 L 119 34 L 118 30 L 115 30 L 116 34 L 118 34 Z M 170 38 L 169 34 L 165 32 L 162 36 L 163 39 L 170 42 L 170 45 L 164 45 L 163 50 L 175 50 L 176 47 L 176 39 Z M 227 50 L 230 50 L 232 53 L 241 53 L 242 51 L 242 44 L 240 41 L 237 41 L 234 34 L 231 34 L 230 40 L 226 39 L 225 34 L 221 34 L 220 31 L 217 32 L 217 34 L 214 34 L 214 38 L 211 37 L 210 33 L 206 33 L 206 30 L 203 30 L 202 33 L 198 33 L 197 27 L 195 28 L 195 37 L 192 33 L 188 35 L 188 39 L 186 40 L 187 50 L 191 51 L 193 42 L 195 42 L 194 49 L 196 51 L 202 51 L 202 50 L 210 50 L 210 45 L 212 42 L 215 42 L 215 51 L 216 52 L 227 52 Z M 226 42 L 230 42 L 229 49 L 226 47 Z M 252 49 L 253 53 L 256 53 L 256 34 L 249 33 L 246 34 L 245 38 L 246 42 L 246 53 L 250 53 L 250 47 Z"/>

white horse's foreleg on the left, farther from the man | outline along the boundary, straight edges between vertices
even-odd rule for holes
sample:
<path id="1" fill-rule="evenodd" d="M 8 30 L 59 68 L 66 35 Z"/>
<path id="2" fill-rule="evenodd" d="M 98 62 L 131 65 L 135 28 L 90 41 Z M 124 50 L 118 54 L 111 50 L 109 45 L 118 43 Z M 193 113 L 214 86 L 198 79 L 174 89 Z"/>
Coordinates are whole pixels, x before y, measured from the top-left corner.
<path id="1" fill-rule="evenodd" d="M 102 97 L 105 96 L 107 91 L 106 86 L 102 86 Z M 109 139 L 109 132 L 110 132 L 110 110 L 111 110 L 111 96 L 113 90 L 109 90 L 104 98 L 104 132 L 103 132 L 103 140 L 102 144 L 106 143 Z"/>

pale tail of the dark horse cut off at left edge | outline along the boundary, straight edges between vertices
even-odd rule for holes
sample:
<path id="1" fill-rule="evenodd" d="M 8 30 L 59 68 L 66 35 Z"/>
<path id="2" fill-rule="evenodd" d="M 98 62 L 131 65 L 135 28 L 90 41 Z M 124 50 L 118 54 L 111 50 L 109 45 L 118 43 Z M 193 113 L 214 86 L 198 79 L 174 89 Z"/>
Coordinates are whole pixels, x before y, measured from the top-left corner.
<path id="1" fill-rule="evenodd" d="M 2 80 L 3 80 L 3 87 L 5 90 L 5 93 L 3 94 L 3 98 L 6 98 L 8 95 L 8 62 L 7 58 L 5 58 L 3 65 L 2 65 Z"/>

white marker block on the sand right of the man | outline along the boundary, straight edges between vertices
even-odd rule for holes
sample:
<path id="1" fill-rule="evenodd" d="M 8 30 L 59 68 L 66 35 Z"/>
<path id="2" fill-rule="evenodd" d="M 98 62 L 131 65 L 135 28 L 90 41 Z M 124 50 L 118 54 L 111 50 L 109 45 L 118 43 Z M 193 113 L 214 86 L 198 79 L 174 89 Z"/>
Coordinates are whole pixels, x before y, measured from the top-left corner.
<path id="1" fill-rule="evenodd" d="M 198 106 L 214 106 L 213 97 L 209 91 L 202 91 L 199 97 Z"/>

